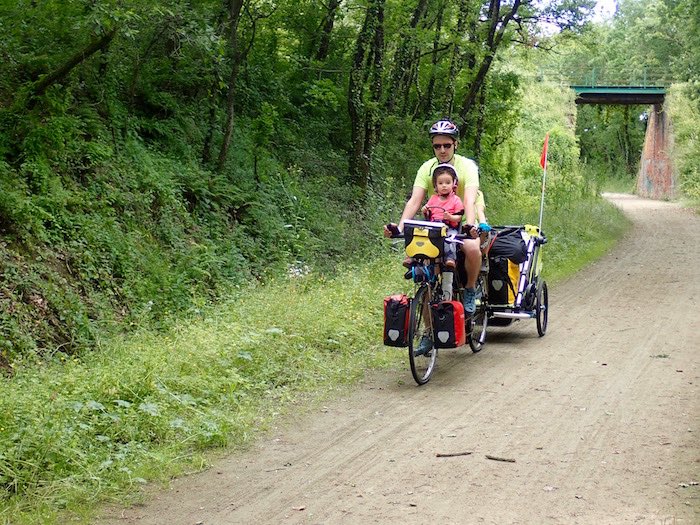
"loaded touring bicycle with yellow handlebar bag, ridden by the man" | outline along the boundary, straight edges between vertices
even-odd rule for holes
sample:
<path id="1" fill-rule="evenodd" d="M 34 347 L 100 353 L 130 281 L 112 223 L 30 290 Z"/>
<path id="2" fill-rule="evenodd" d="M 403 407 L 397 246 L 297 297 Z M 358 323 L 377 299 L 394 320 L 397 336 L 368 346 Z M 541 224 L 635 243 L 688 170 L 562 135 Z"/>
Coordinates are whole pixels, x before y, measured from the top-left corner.
<path id="1" fill-rule="evenodd" d="M 456 234 L 447 236 L 447 227 L 443 223 L 431 221 L 405 221 L 404 232 L 398 230 L 392 235 L 393 238 L 403 238 L 406 240 L 406 254 L 413 258 L 411 268 L 406 272 L 405 277 L 412 279 L 417 285 L 413 297 L 410 299 L 409 322 L 408 322 L 408 357 L 411 367 L 411 374 L 418 385 L 427 383 L 437 364 L 439 348 L 435 344 L 435 323 L 433 311 L 443 299 L 442 290 L 442 256 L 444 255 L 444 243 L 462 243 L 464 239 L 471 238 L 469 235 Z M 419 235 L 420 234 L 420 235 Z M 466 282 L 466 272 L 463 271 L 463 260 L 460 261 L 458 251 L 457 267 L 453 283 L 452 299 L 463 302 L 464 288 L 462 283 Z M 463 256 L 462 256 L 463 257 Z M 488 271 L 482 264 L 481 272 L 477 278 L 477 287 L 482 293 L 485 290 L 483 277 L 484 271 Z M 477 307 L 478 311 L 478 307 Z M 437 314 L 439 315 L 439 313 Z M 481 344 L 477 334 L 476 339 L 471 334 L 474 320 L 465 317 L 464 331 L 469 341 L 469 346 L 473 352 L 481 350 Z M 439 335 L 438 335 L 439 337 Z"/>

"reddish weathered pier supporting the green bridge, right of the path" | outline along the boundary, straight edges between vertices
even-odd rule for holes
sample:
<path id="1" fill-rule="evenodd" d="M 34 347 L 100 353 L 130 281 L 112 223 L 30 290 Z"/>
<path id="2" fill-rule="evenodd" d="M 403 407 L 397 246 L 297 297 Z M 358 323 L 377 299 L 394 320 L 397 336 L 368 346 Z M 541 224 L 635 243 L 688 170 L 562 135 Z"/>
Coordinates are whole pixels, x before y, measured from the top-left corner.
<path id="1" fill-rule="evenodd" d="M 676 173 L 670 156 L 672 140 L 671 122 L 664 105 L 654 104 L 644 137 L 637 195 L 666 200 L 676 197 Z"/>

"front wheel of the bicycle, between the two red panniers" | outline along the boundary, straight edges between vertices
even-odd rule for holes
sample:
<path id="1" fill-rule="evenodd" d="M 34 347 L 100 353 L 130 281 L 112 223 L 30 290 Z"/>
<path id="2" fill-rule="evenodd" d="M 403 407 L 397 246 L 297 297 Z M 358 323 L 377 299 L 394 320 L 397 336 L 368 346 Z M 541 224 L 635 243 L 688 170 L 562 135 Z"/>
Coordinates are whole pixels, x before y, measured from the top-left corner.
<path id="1" fill-rule="evenodd" d="M 411 316 L 408 325 L 408 359 L 411 374 L 419 385 L 430 380 L 437 362 L 437 348 L 433 345 L 430 322 L 430 299 L 428 287 L 421 286 L 411 301 Z"/>

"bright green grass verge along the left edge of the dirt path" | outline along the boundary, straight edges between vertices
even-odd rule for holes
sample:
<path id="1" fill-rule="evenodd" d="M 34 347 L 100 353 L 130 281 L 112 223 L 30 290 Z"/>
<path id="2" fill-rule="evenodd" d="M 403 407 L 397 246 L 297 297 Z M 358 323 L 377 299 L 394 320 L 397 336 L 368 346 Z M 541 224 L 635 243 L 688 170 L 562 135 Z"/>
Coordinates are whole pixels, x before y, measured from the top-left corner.
<path id="1" fill-rule="evenodd" d="M 550 222 L 550 282 L 609 249 L 627 225 L 602 201 Z M 25 363 L 0 382 L 0 523 L 89 522 L 105 502 L 133 502 L 147 482 L 245 447 L 292 406 L 368 370 L 406 368 L 402 350 L 381 345 L 383 297 L 411 286 L 400 260 L 387 248 L 332 279 L 241 291 L 165 333 Z"/>

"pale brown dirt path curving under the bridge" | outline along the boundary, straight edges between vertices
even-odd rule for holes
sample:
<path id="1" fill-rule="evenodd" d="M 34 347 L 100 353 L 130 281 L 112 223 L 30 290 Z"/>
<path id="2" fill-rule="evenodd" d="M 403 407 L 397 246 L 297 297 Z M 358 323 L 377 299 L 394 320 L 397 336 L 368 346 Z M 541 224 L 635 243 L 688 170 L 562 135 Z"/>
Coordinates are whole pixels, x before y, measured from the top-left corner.
<path id="1" fill-rule="evenodd" d="M 544 338 L 375 376 L 102 523 L 700 523 L 700 218 L 610 198 L 634 228 L 550 288 Z"/>

